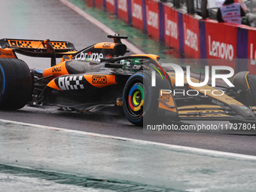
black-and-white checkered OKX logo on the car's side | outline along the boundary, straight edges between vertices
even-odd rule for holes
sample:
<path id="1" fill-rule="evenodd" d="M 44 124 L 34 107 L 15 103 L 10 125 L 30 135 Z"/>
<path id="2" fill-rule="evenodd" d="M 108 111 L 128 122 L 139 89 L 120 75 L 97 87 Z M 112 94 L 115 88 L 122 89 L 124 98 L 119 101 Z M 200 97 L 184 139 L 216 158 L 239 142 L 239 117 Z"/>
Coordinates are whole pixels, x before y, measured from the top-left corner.
<path id="1" fill-rule="evenodd" d="M 83 90 L 83 75 L 79 76 L 68 76 L 58 79 L 60 90 Z"/>

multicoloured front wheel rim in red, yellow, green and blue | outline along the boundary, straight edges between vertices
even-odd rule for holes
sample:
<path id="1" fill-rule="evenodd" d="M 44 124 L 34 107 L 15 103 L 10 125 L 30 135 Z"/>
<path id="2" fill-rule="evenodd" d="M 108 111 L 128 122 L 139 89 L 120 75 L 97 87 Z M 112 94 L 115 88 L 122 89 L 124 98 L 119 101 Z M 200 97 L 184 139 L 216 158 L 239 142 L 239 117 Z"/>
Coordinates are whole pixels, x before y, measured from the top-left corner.
<path id="1" fill-rule="evenodd" d="M 133 87 L 131 87 L 128 96 L 128 107 L 131 114 L 136 116 L 142 114 L 144 97 L 143 84 L 134 84 Z"/>

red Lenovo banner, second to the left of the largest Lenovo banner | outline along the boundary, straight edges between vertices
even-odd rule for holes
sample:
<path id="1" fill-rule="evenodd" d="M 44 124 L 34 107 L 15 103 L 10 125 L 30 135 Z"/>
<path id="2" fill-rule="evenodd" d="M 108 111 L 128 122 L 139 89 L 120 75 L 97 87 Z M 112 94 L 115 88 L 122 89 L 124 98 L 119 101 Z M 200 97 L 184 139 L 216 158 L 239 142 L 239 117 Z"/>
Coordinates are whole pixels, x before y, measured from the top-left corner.
<path id="1" fill-rule="evenodd" d="M 168 5 L 164 6 L 164 23 L 165 23 L 165 43 L 169 47 L 179 50 L 178 45 L 178 12 L 170 8 Z"/>

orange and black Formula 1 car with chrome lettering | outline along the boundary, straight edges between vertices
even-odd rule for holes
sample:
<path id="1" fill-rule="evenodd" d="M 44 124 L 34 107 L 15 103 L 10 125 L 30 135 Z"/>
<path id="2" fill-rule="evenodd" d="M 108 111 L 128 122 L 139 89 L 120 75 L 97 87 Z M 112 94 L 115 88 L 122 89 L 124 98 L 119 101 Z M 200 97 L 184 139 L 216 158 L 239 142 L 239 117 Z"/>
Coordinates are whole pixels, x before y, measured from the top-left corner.
<path id="1" fill-rule="evenodd" d="M 235 87 L 177 87 L 175 71 L 153 54 L 125 55 L 120 35 L 77 51 L 66 41 L 0 40 L 0 109 L 58 106 L 65 111 L 125 114 L 135 125 L 169 120 L 241 120 L 255 123 L 256 75 L 239 72 Z M 51 67 L 29 69 L 16 53 L 50 57 Z M 56 65 L 56 58 L 62 61 Z M 207 90 L 207 91 L 206 91 Z M 194 91 L 192 94 L 191 91 Z M 186 94 L 175 94 L 186 93 Z"/>

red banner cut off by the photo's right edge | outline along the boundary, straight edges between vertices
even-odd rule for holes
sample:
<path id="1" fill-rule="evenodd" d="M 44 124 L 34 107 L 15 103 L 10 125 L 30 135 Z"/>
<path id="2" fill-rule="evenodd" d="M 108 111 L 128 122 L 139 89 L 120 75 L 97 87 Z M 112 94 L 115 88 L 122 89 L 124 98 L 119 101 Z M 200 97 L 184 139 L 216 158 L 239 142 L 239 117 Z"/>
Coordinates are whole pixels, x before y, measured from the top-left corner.
<path id="1" fill-rule="evenodd" d="M 248 71 L 256 75 L 256 29 L 248 30 Z"/>

